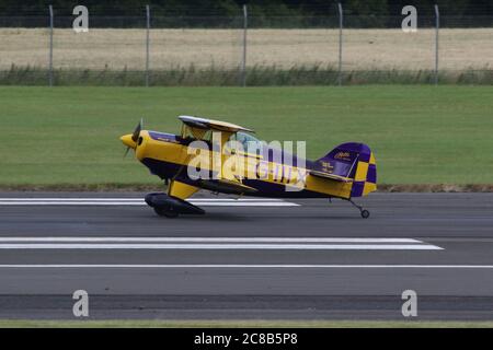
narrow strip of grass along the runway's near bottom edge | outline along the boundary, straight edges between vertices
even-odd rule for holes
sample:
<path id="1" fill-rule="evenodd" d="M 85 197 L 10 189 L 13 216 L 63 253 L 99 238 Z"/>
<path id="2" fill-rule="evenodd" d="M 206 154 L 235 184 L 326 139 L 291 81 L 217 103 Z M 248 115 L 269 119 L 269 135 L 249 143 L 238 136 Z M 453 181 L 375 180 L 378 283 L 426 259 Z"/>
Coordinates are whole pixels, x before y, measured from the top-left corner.
<path id="1" fill-rule="evenodd" d="M 423 320 L 0 320 L 0 328 L 493 328 L 492 322 Z"/>

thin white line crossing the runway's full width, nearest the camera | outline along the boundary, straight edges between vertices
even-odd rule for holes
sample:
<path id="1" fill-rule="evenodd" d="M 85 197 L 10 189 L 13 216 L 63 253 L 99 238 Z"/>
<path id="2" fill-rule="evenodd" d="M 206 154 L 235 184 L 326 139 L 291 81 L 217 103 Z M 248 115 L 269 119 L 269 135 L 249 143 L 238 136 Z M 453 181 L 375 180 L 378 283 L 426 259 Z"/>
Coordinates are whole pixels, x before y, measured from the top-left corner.
<path id="1" fill-rule="evenodd" d="M 130 264 L 3 264 L 0 268 L 111 268 L 111 269 L 216 269 L 216 268 L 233 268 L 233 269 L 493 269 L 493 265 L 130 265 Z"/>

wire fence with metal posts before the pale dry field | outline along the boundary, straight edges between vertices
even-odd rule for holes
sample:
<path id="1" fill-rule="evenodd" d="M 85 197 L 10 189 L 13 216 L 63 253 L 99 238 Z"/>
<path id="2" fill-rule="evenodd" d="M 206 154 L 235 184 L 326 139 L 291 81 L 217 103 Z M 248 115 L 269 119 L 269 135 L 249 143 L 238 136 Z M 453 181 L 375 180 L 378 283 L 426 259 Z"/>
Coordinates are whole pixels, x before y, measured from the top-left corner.
<path id="1" fill-rule="evenodd" d="M 0 14 L 1 84 L 493 83 L 493 18 Z"/>

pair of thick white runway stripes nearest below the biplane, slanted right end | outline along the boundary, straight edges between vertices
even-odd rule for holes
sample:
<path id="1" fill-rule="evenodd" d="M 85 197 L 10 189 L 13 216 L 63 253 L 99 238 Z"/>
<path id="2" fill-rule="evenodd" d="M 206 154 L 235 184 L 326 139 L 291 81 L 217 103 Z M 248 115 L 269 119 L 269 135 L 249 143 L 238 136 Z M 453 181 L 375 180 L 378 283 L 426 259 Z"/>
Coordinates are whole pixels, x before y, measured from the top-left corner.
<path id="1" fill-rule="evenodd" d="M 413 238 L 0 237 L 0 249 L 440 250 Z"/>

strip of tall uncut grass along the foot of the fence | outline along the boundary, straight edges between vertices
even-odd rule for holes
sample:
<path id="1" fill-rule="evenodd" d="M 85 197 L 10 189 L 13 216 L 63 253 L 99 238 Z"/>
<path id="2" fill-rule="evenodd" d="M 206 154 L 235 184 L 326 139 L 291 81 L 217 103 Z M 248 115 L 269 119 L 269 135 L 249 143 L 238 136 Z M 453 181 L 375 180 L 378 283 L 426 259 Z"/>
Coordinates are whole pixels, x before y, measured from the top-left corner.
<path id="1" fill-rule="evenodd" d="M 277 66 L 253 66 L 246 69 L 248 86 L 296 86 L 336 85 L 339 73 L 335 67 L 298 65 L 291 68 Z M 344 85 L 362 84 L 431 84 L 433 70 L 346 70 L 342 74 Z M 152 70 L 151 86 L 238 86 L 241 84 L 240 68 L 225 67 L 173 67 Z M 443 70 L 440 84 L 493 84 L 493 70 L 466 69 Z M 37 67 L 16 67 L 0 71 L 0 85 L 48 84 L 48 70 Z M 139 70 L 56 69 L 54 84 L 57 86 L 144 86 L 146 72 Z"/>

